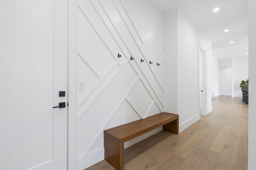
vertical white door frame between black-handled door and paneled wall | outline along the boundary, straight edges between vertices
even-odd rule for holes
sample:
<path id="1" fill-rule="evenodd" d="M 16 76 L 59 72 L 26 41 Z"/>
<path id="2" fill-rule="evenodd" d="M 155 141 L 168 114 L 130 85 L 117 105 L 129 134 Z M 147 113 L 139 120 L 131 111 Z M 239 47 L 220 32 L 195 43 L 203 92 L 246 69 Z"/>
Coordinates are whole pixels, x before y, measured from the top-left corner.
<path id="1" fill-rule="evenodd" d="M 68 0 L 68 170 L 76 169 L 76 0 Z"/>

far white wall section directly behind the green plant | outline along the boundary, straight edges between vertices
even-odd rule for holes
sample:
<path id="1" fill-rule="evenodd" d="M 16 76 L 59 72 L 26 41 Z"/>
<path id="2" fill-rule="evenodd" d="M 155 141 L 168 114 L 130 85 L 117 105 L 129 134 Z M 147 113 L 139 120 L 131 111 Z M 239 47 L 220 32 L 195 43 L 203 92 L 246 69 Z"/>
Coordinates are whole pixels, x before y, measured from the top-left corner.
<path id="1" fill-rule="evenodd" d="M 248 79 L 248 57 L 234 58 L 234 96 L 242 97 L 240 83 Z"/>

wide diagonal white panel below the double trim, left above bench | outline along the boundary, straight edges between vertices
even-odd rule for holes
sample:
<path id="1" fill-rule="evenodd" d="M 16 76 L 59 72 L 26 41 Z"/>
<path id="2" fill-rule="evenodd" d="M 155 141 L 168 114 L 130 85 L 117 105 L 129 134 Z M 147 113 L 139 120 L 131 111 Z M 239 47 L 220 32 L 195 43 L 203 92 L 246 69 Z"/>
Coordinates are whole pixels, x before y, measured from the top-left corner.
<path id="1" fill-rule="evenodd" d="M 104 125 L 108 117 L 111 116 L 111 113 L 134 84 L 136 78 L 137 74 L 132 69 L 131 64 L 126 64 L 86 113 L 79 119 L 77 123 L 78 156 L 82 156 L 88 152 L 88 148 L 92 145 L 92 140 L 88 139 L 94 139 L 97 134 L 102 133 L 100 132 L 102 125 Z M 84 135 L 85 131 L 86 135 Z"/>

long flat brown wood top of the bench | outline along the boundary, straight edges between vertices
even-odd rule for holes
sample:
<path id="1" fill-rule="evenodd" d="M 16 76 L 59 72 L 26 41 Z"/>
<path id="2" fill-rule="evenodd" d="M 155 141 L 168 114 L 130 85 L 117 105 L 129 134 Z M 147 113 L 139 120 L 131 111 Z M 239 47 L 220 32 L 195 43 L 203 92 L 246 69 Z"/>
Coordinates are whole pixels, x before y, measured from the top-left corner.
<path id="1" fill-rule="evenodd" d="M 163 112 L 145 119 L 140 119 L 107 129 L 105 132 L 113 135 L 123 142 L 127 142 L 176 119 L 178 119 L 178 115 Z"/>

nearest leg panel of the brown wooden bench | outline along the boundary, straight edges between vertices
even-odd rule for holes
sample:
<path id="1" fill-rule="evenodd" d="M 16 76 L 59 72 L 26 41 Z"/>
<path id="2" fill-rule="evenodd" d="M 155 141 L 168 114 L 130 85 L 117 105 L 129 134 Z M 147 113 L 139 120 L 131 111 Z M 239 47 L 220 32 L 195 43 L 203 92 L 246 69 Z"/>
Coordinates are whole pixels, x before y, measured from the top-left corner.
<path id="1" fill-rule="evenodd" d="M 104 131 L 105 160 L 116 170 L 124 170 L 124 142 Z"/>

